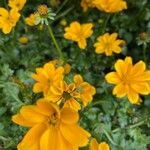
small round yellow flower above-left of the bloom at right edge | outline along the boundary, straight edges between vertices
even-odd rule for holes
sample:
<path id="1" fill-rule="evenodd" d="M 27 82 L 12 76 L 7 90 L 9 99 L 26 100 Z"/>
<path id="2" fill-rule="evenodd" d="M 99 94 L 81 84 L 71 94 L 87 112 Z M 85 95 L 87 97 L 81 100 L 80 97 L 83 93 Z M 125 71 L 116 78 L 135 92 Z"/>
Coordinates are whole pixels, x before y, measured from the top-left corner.
<path id="1" fill-rule="evenodd" d="M 105 33 L 97 38 L 98 42 L 94 44 L 95 52 L 97 54 L 105 53 L 106 56 L 111 56 L 112 53 L 120 53 L 121 46 L 124 45 L 124 40 L 117 39 L 117 33 Z"/>

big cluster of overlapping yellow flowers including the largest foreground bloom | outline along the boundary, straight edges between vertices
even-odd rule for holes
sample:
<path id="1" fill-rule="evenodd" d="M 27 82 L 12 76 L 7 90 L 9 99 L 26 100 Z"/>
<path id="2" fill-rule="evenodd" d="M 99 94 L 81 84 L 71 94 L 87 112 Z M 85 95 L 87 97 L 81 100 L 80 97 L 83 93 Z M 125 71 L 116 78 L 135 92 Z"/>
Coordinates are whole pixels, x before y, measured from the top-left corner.
<path id="1" fill-rule="evenodd" d="M 23 106 L 12 117 L 13 122 L 30 128 L 19 150 L 75 150 L 88 144 L 90 133 L 78 125 L 78 110 L 92 101 L 96 90 L 81 75 L 75 75 L 73 82 L 65 81 L 70 70 L 69 64 L 53 60 L 32 75 L 37 81 L 33 91 L 42 92 L 44 98 Z"/>

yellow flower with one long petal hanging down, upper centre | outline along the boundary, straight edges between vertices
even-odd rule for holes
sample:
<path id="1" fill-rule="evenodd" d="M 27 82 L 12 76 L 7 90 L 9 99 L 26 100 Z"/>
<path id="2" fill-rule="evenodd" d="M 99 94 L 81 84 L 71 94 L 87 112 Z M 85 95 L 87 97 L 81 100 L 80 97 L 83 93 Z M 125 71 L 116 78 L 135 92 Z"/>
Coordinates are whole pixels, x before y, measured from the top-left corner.
<path id="1" fill-rule="evenodd" d="M 87 46 L 86 39 L 93 33 L 92 27 L 92 23 L 85 23 L 81 25 L 77 21 L 72 22 L 70 27 L 65 28 L 64 37 L 68 40 L 77 42 L 81 49 L 85 49 Z"/>

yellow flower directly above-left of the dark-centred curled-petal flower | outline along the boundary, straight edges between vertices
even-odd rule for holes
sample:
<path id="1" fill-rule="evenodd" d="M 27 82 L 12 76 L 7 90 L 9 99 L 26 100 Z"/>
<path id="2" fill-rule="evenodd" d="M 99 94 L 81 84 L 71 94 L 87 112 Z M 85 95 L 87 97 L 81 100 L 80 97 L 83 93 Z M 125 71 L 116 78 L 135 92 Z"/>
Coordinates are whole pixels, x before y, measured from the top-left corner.
<path id="1" fill-rule="evenodd" d="M 32 75 L 32 78 L 37 81 L 33 86 L 33 92 L 43 92 L 47 95 L 50 86 L 56 81 L 63 79 L 64 68 L 56 68 L 52 63 L 46 63 L 44 67 L 37 68 L 36 74 Z"/>

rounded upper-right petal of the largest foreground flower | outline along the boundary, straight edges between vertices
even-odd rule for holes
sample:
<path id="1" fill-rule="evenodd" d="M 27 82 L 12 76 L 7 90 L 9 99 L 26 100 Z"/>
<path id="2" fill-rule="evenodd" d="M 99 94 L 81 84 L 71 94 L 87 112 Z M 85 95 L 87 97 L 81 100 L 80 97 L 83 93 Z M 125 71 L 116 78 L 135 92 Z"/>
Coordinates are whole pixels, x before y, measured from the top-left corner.
<path id="1" fill-rule="evenodd" d="M 66 124 L 75 124 L 79 120 L 79 115 L 71 108 L 63 108 L 61 110 L 61 120 Z"/>

